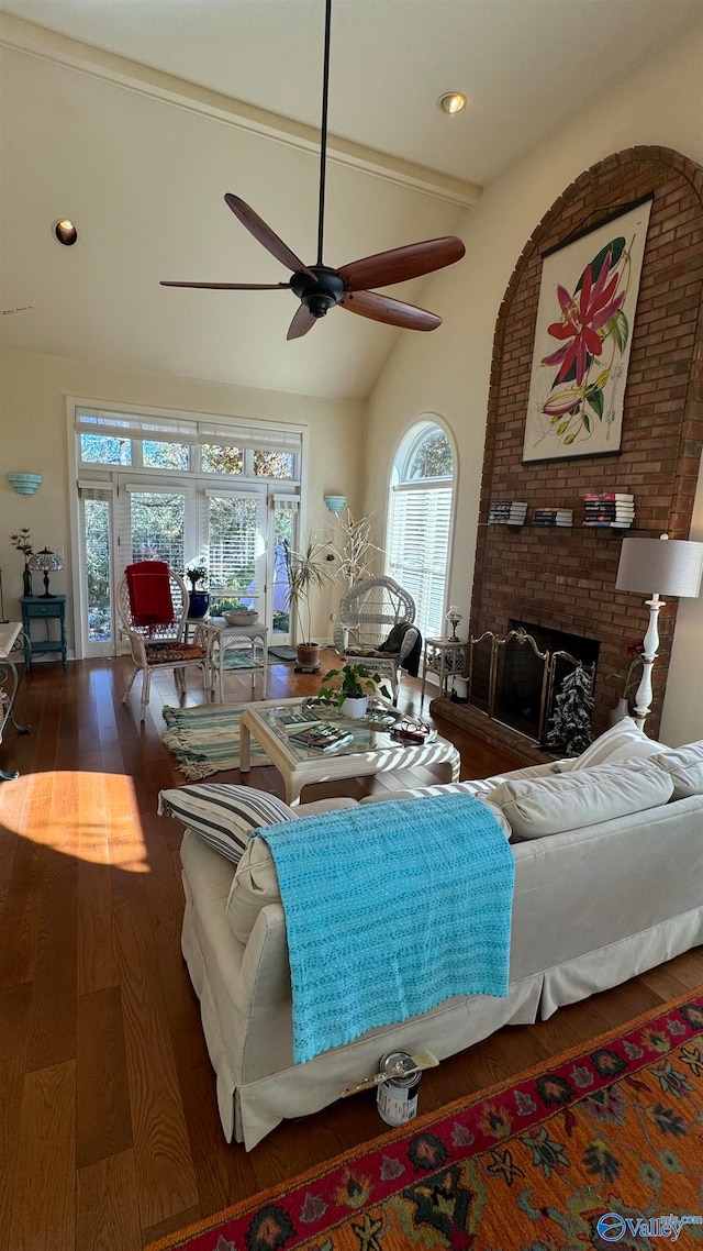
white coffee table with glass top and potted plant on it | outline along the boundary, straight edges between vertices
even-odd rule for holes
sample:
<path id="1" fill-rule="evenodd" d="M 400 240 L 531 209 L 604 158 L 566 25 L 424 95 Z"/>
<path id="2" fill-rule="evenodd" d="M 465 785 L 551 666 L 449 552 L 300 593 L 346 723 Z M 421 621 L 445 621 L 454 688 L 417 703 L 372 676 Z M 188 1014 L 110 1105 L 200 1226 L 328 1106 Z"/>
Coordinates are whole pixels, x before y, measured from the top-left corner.
<path id="1" fill-rule="evenodd" d="M 240 772 L 249 773 L 251 768 L 250 738 L 254 737 L 281 774 L 285 801 L 291 806 L 298 804 L 303 787 L 310 782 L 392 773 L 417 764 L 448 764 L 452 782 L 459 781 L 459 752 L 445 738 L 437 737 L 427 743 L 395 743 L 387 731 L 365 721 L 340 721 L 339 724 L 350 729 L 354 739 L 335 752 L 315 752 L 295 743 L 276 721 L 275 709 L 301 703 L 301 699 L 269 699 L 248 704 L 241 712 L 240 724 Z M 324 714 L 321 719 L 326 719 Z"/>

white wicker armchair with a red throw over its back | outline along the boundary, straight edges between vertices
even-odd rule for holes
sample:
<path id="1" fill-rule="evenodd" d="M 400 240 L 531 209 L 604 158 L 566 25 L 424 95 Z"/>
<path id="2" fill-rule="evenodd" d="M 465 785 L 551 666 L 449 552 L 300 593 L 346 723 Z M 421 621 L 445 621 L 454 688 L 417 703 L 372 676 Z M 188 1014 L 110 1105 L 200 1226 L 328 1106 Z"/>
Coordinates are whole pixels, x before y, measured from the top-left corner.
<path id="1" fill-rule="evenodd" d="M 130 565 L 130 569 L 139 570 L 146 563 L 151 562 L 138 562 Z M 126 703 L 136 674 L 141 673 L 140 721 L 144 721 L 149 703 L 151 674 L 158 669 L 173 669 L 176 688 L 181 693 L 185 692 L 185 671 L 189 668 L 201 672 L 203 686 L 208 694 L 213 687 L 211 652 L 218 632 L 200 622 L 195 628 L 193 642 L 186 642 L 185 626 L 190 602 L 188 589 L 178 573 L 173 569 L 168 573 L 173 604 L 170 620 L 151 622 L 149 626 L 139 623 L 139 617 L 133 612 L 126 573 L 118 590 L 121 633 L 129 642 L 134 662 L 134 673 L 123 696 L 123 703 Z"/>

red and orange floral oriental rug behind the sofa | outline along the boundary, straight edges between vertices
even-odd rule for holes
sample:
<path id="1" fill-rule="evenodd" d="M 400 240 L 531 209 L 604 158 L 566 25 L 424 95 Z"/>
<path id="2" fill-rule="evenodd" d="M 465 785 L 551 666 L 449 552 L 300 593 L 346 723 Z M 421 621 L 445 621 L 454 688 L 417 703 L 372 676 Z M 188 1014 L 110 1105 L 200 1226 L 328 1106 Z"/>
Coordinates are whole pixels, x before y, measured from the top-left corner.
<path id="1" fill-rule="evenodd" d="M 655 1251 L 702 1246 L 702 1212 L 692 992 L 150 1251 Z"/>

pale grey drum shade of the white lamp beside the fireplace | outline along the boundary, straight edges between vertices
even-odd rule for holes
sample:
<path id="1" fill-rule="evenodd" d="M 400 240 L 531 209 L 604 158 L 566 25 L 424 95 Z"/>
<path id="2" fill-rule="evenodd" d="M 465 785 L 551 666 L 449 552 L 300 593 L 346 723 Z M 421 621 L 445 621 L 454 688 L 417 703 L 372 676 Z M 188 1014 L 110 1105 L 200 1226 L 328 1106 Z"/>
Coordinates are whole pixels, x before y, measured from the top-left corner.
<path id="1" fill-rule="evenodd" d="M 623 539 L 615 590 L 695 598 L 703 543 L 689 539 Z"/>

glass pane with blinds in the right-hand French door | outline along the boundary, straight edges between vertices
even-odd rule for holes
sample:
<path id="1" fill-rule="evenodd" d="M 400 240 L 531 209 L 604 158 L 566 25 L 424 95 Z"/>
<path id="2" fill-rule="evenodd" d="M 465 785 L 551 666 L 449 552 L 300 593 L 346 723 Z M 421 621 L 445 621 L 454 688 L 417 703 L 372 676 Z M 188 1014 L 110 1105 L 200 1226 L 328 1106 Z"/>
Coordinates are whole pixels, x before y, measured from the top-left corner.
<path id="1" fill-rule="evenodd" d="M 260 549 L 259 500 L 236 495 L 208 499 L 210 595 L 214 610 L 259 608 L 256 558 Z"/>

